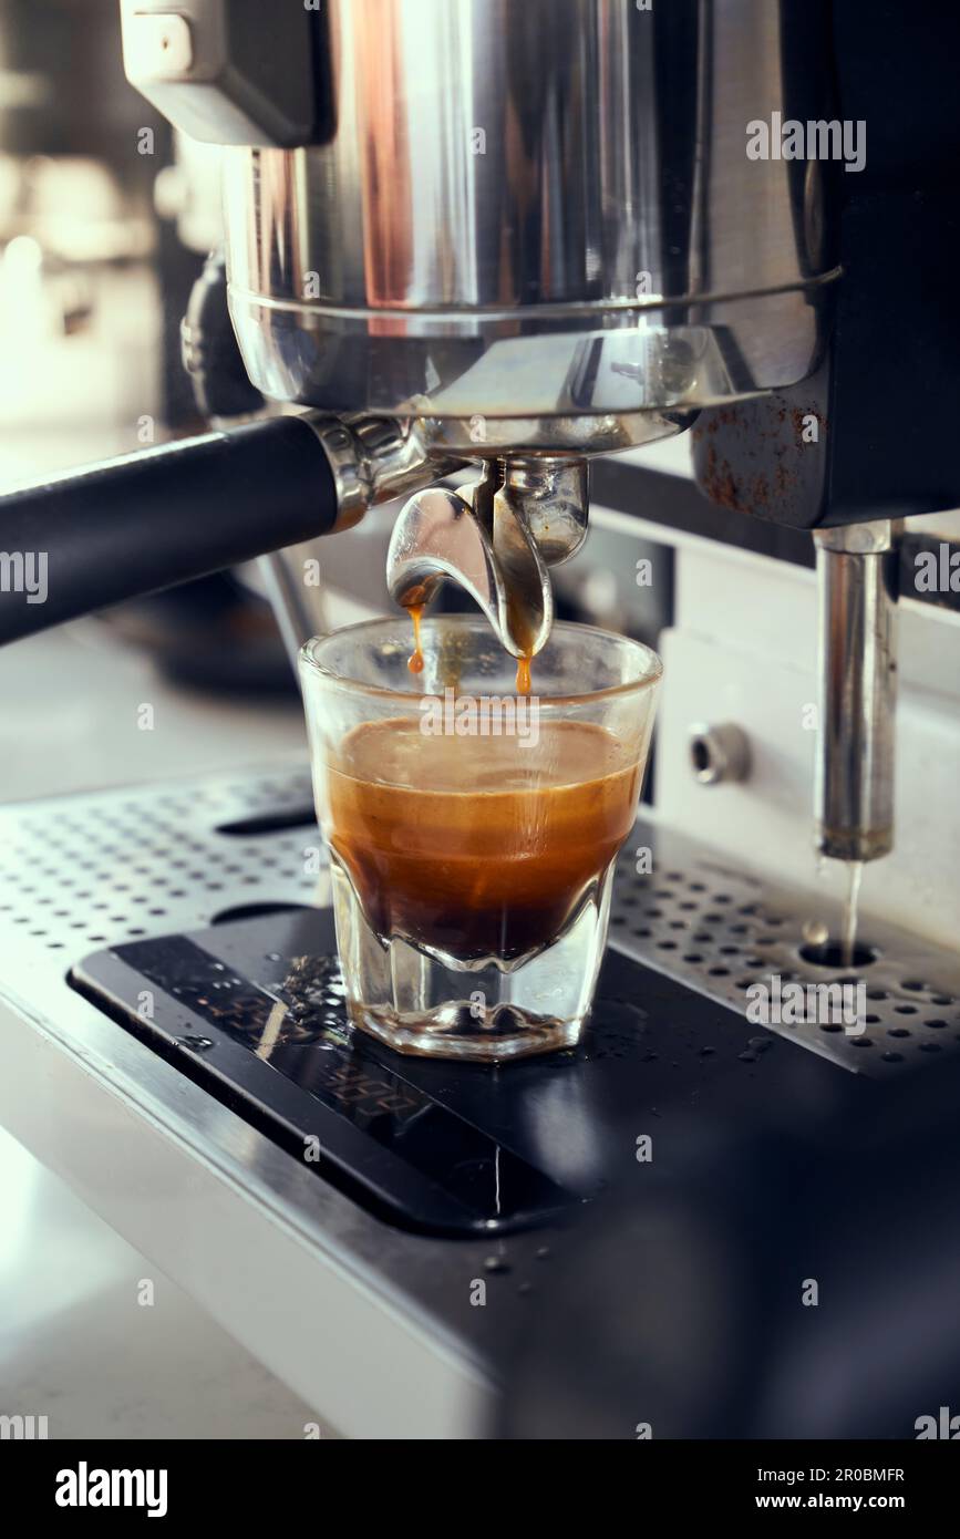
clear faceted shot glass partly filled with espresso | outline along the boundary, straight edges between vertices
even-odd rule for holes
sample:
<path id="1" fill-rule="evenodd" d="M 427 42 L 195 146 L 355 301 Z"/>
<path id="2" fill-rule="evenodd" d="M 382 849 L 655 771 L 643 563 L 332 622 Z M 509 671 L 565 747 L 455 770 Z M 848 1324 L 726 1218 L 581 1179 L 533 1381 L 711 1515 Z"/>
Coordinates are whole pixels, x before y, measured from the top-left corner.
<path id="1" fill-rule="evenodd" d="M 352 625 L 300 654 L 352 1022 L 400 1053 L 572 1047 L 634 823 L 660 660 L 555 625 L 515 659 L 482 616 Z"/>

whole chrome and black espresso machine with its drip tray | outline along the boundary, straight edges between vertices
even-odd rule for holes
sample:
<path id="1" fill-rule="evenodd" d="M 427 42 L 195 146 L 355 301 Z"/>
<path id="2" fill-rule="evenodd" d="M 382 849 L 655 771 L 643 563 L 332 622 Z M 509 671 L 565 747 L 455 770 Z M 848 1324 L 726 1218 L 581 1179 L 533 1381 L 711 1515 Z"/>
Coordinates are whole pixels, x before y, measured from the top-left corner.
<path id="1" fill-rule="evenodd" d="M 728 1434 L 912 1436 L 911 1396 L 960 1377 L 955 1224 L 922 1176 L 957 1162 L 960 596 L 915 582 L 918 557 L 949 569 L 929 520 L 960 503 L 960 23 L 880 3 L 865 26 L 848 0 L 122 12 L 128 78 L 223 149 L 225 251 L 183 326 L 211 431 L 0 499 L 5 549 L 48 562 L 43 603 L 3 593 L 0 640 L 260 557 L 294 651 L 320 626 L 305 563 L 389 505 L 385 602 L 446 585 L 517 656 L 597 548 L 643 633 L 652 566 L 666 683 L 591 1037 L 503 1071 L 351 1039 L 306 766 L 0 814 L 5 1125 L 346 1434 L 711 1436 L 694 1348 L 726 1331 L 755 1367 L 735 1404 L 709 1391 Z M 846 948 L 814 851 L 854 890 L 866 868 Z M 74 859 L 115 922 L 49 919 Z M 862 980 L 865 1028 L 758 1031 L 772 974 Z M 886 1162 L 883 1193 L 851 1205 L 828 1154 Z M 718 1193 L 763 1170 L 757 1205 L 789 1197 L 798 1233 L 811 1165 L 825 1274 L 877 1211 L 929 1220 L 942 1287 L 922 1320 L 885 1314 L 912 1377 L 882 1390 L 855 1290 L 829 1325 L 855 1337 L 843 1393 L 797 1376 L 775 1257 L 783 1328 L 751 1334 L 760 1231 L 702 1200 L 705 1170 Z M 623 1267 L 651 1254 L 637 1324 Z M 883 1256 L 874 1276 L 886 1308 Z M 622 1334 L 563 1359 L 585 1288 Z"/>

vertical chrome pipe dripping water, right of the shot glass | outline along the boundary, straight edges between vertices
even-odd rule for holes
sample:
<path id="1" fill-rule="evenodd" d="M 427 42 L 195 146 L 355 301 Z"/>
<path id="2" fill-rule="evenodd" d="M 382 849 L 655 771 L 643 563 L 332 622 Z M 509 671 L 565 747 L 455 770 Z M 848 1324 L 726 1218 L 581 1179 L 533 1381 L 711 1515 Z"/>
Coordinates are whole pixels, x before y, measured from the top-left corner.
<path id="1" fill-rule="evenodd" d="M 894 845 L 897 593 L 889 520 L 815 532 L 820 585 L 817 850 L 875 860 Z"/>

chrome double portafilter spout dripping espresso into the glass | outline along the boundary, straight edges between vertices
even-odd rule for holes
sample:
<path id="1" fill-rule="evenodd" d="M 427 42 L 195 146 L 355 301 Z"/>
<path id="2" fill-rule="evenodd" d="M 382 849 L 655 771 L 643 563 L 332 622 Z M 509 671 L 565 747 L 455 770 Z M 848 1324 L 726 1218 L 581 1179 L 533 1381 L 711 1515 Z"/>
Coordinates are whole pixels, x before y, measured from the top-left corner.
<path id="1" fill-rule="evenodd" d="M 491 459 L 469 486 L 420 491 L 389 543 L 391 597 L 422 608 L 449 579 L 480 605 L 514 657 L 535 657 L 554 622 L 549 568 L 580 549 L 588 506 L 582 459 Z"/>

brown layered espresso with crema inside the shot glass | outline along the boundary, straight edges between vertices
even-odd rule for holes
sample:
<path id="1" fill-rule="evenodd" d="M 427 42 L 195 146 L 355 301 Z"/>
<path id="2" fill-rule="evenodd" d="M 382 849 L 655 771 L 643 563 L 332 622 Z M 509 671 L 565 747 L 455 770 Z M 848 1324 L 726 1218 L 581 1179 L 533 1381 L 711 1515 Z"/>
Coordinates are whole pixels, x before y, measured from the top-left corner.
<path id="1" fill-rule="evenodd" d="M 552 945 L 634 820 L 640 766 L 591 722 L 535 745 L 366 722 L 328 770 L 329 842 L 372 928 L 445 959 Z"/>

